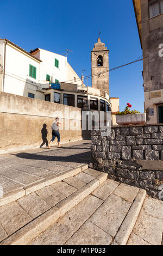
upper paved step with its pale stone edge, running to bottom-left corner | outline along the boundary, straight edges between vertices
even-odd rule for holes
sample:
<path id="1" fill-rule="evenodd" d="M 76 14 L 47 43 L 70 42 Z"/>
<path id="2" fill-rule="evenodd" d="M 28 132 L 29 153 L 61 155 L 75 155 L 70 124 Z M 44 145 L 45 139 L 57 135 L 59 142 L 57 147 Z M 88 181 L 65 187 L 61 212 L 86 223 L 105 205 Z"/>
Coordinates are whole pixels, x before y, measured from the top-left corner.
<path id="1" fill-rule="evenodd" d="M 107 179 L 108 174 L 86 167 L 61 174 L 55 183 L 51 180 L 44 186 L 35 186 L 17 202 L 1 206 L 1 245 L 30 243 Z"/>

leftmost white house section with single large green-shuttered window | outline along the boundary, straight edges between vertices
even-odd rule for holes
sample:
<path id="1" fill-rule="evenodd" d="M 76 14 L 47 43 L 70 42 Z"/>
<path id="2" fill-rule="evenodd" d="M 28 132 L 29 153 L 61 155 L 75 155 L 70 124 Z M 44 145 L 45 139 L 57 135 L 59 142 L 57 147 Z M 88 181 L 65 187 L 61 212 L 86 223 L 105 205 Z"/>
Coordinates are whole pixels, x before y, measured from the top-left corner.
<path id="1" fill-rule="evenodd" d="M 41 60 L 6 39 L 0 40 L 1 92 L 44 100 L 39 92 Z"/>

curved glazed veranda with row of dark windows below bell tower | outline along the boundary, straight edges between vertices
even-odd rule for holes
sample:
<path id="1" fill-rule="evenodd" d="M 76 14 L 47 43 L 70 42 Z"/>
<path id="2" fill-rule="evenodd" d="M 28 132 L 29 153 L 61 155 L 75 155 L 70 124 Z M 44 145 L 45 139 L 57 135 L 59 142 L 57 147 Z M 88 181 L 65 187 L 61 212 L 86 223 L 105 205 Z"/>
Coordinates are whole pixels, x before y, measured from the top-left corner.
<path id="1" fill-rule="evenodd" d="M 72 107 L 83 108 L 85 103 L 91 111 L 111 111 L 109 97 L 100 94 L 100 90 L 92 87 L 79 86 L 72 83 L 60 83 L 57 88 L 43 89 L 47 101 Z"/>

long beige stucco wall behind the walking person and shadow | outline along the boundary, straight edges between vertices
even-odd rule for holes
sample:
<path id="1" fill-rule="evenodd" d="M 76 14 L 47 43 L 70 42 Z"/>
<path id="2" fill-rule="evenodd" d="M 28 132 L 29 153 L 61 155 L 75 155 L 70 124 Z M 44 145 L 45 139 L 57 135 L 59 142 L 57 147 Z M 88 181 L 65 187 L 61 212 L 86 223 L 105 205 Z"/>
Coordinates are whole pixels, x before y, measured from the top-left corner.
<path id="1" fill-rule="evenodd" d="M 40 147 L 43 124 L 49 141 L 55 117 L 60 117 L 62 124 L 61 143 L 82 139 L 79 108 L 0 92 L 0 154 Z"/>

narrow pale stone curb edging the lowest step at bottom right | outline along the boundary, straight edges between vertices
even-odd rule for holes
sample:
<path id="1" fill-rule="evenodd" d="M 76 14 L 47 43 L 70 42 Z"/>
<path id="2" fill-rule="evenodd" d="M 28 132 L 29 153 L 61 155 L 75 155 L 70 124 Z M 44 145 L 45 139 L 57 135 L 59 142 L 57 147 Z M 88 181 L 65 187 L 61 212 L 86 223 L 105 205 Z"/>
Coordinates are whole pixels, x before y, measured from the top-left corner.
<path id="1" fill-rule="evenodd" d="M 120 227 L 120 230 L 118 230 L 116 234 L 114 241 L 118 243 L 118 245 L 126 245 L 131 231 L 133 230 L 137 221 L 137 217 L 140 214 L 145 198 L 146 190 L 140 189 L 137 193 L 134 203 L 131 205 L 129 212 Z"/>

